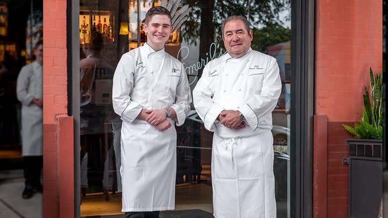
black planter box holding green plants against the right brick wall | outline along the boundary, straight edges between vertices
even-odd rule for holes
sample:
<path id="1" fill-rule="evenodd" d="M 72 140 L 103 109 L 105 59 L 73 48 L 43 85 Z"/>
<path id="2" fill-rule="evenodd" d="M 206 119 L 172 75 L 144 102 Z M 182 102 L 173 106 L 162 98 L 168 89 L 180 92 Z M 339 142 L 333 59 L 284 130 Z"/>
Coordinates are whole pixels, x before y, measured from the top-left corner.
<path id="1" fill-rule="evenodd" d="M 383 193 L 383 141 L 348 139 L 349 218 L 377 218 Z"/>

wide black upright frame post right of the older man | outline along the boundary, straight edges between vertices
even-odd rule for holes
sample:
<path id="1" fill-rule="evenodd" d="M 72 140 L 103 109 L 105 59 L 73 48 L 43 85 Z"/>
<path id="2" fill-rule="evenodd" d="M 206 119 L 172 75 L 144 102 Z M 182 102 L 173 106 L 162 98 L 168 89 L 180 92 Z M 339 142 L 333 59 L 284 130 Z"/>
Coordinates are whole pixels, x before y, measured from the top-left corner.
<path id="1" fill-rule="evenodd" d="M 291 0 L 291 218 L 312 217 L 314 0 Z"/>

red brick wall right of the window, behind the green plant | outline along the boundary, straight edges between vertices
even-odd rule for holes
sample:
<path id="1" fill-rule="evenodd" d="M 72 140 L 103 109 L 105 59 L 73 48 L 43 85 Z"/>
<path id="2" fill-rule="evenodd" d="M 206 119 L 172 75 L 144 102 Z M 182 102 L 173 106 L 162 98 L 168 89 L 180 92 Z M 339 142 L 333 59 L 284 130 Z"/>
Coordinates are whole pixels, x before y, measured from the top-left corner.
<path id="1" fill-rule="evenodd" d="M 360 119 L 364 86 L 369 86 L 369 67 L 382 70 L 382 1 L 315 0 L 315 103 L 314 114 L 327 116 L 327 133 L 314 129 L 314 153 L 327 151 L 327 202 L 316 202 L 325 182 L 315 180 L 314 209 L 327 215 L 314 218 L 348 217 L 347 133 L 342 124 Z M 324 123 L 324 122 L 323 122 Z M 314 128 L 319 128 L 315 126 Z M 322 143 L 327 134 L 327 143 Z M 316 158 L 316 157 L 314 157 Z M 317 161 L 317 163 L 316 163 Z"/>

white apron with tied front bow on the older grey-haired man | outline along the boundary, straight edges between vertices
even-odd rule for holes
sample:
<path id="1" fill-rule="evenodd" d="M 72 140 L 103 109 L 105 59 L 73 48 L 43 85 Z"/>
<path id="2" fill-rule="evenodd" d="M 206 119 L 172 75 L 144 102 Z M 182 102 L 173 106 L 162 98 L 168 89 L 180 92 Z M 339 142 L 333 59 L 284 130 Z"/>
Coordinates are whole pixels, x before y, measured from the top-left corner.
<path id="1" fill-rule="evenodd" d="M 213 135 L 215 218 L 276 218 L 271 131 L 250 137 Z"/>

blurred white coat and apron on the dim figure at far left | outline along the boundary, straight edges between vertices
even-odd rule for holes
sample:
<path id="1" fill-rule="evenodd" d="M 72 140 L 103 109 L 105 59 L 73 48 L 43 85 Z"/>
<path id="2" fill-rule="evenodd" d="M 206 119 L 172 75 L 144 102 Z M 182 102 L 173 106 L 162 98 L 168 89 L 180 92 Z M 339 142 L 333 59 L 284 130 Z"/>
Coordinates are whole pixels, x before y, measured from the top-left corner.
<path id="1" fill-rule="evenodd" d="M 43 98 L 43 66 L 34 61 L 21 68 L 16 96 L 21 102 L 21 144 L 23 156 L 43 155 L 43 110 L 31 104 Z"/>

